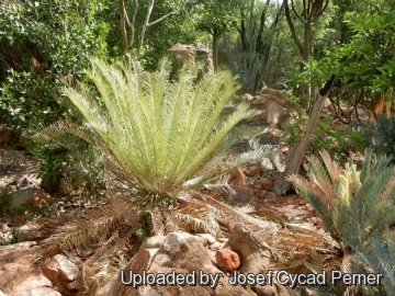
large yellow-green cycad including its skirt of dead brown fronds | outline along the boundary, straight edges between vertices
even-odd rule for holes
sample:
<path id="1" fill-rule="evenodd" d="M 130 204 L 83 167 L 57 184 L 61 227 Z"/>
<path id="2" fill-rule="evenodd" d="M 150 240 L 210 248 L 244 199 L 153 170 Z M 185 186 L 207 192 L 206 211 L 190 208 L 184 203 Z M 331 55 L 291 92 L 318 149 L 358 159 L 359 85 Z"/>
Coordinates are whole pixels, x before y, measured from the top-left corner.
<path id="1" fill-rule="evenodd" d="M 228 152 L 227 148 L 241 136 L 248 136 L 235 126 L 256 115 L 246 104 L 229 115 L 222 114 L 237 90 L 229 73 L 218 72 L 196 81 L 196 69 L 191 68 L 170 81 L 169 72 L 166 60 L 157 71 L 147 72 L 136 61 L 125 67 L 92 59 L 88 77 L 95 89 L 83 83 L 65 87 L 86 123 L 57 122 L 33 136 L 44 143 L 56 138 L 61 146 L 67 145 L 67 137 L 61 137 L 65 133 L 86 139 L 102 152 L 105 168 L 126 183 L 131 193 L 109 192 L 113 198 L 94 215 L 87 213 L 83 220 L 67 221 L 66 227 L 60 225 L 52 231 L 55 235 L 43 240 L 64 251 L 95 248 L 83 264 L 84 278 L 95 278 L 98 270 L 100 274 L 111 272 L 115 265 L 109 262 L 111 258 L 125 260 L 125 247 L 137 244 L 137 237 L 142 241 L 150 235 L 179 229 L 219 236 L 219 224 L 229 230 L 235 223 L 264 229 L 268 237 L 278 230 L 276 225 L 189 190 L 246 161 L 269 158 L 283 168 L 272 146 L 252 145 L 250 151 L 238 156 Z M 173 201 L 178 203 L 170 203 Z"/>

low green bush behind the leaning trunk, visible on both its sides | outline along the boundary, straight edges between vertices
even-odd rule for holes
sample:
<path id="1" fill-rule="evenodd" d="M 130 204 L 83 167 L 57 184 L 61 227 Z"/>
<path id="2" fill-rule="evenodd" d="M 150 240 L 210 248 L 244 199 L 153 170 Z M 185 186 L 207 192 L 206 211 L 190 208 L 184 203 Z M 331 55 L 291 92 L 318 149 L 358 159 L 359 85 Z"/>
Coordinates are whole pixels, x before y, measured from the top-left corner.
<path id="1" fill-rule="evenodd" d="M 350 149 L 363 151 L 368 141 L 361 132 L 352 129 L 339 129 L 331 126 L 334 117 L 325 115 L 318 123 L 308 141 L 307 152 L 317 153 L 321 150 L 329 150 L 335 159 L 340 159 Z M 289 146 L 295 146 L 302 139 L 302 130 L 304 130 L 308 122 L 307 116 L 294 119 L 293 124 L 285 125 L 283 128 L 284 140 Z"/>

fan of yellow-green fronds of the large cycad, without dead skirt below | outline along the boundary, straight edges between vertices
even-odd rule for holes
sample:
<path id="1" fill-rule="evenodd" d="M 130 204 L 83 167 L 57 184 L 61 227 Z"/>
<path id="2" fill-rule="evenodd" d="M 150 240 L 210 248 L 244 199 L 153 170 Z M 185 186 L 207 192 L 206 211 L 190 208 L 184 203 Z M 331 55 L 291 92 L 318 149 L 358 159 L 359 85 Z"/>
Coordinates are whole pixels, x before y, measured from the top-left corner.
<path id="1" fill-rule="evenodd" d="M 240 104 L 227 117 L 222 116 L 223 107 L 237 90 L 228 72 L 194 83 L 196 71 L 190 69 L 170 82 L 166 64 L 163 60 L 157 71 L 147 72 L 138 62 L 129 69 L 92 59 L 88 77 L 100 100 L 82 83 L 79 90 L 65 88 L 91 132 L 71 130 L 69 124 L 58 123 L 35 138 L 50 138 L 60 129 L 91 143 L 92 137 L 87 135 L 98 135 L 94 143 L 115 163 L 114 171 L 133 186 L 159 197 L 177 192 L 182 184 L 199 185 L 245 161 L 273 156 L 269 147 L 260 147 L 239 158 L 215 157 L 215 152 L 234 143 L 228 135 L 236 124 L 255 112 Z M 194 182 L 187 183 L 190 179 Z"/>

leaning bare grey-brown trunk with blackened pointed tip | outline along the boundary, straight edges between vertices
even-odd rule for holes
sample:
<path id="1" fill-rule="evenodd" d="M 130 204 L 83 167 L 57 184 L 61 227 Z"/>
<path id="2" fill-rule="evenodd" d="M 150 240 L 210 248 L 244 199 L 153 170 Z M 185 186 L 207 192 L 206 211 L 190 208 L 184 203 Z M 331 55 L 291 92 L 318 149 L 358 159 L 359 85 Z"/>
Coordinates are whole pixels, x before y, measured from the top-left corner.
<path id="1" fill-rule="evenodd" d="M 273 192 L 276 195 L 284 194 L 286 192 L 286 189 L 291 184 L 289 181 L 285 180 L 286 177 L 296 174 L 298 172 L 298 169 L 302 164 L 304 155 L 307 149 L 309 138 L 321 114 L 326 94 L 328 93 L 334 80 L 335 76 L 332 75 L 332 77 L 325 83 L 325 87 L 319 91 L 318 100 L 314 104 L 312 116 L 307 123 L 301 143 L 294 147 L 291 147 L 290 151 L 286 153 L 285 170 L 280 174 L 273 186 Z"/>

